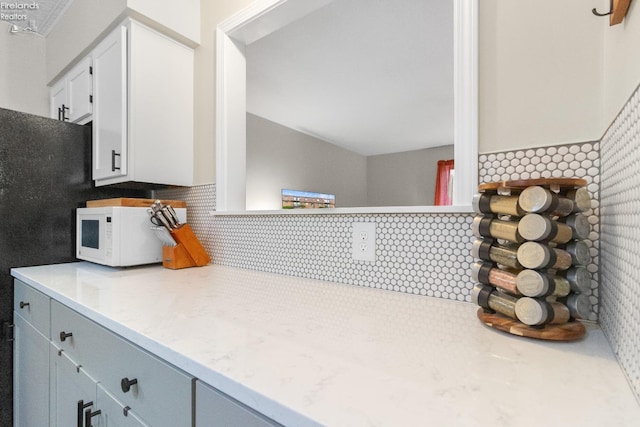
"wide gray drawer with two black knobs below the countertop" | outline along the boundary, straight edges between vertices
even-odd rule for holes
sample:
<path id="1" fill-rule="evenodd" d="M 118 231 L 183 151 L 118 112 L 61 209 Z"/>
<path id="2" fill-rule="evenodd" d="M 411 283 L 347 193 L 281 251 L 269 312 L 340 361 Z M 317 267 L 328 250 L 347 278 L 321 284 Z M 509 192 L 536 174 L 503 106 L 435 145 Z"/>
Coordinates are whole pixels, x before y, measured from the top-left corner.
<path id="1" fill-rule="evenodd" d="M 149 425 L 192 423 L 192 378 L 57 301 L 52 340 Z M 72 335 L 62 341 L 60 332 Z M 127 391 L 123 380 L 131 384 Z"/>

